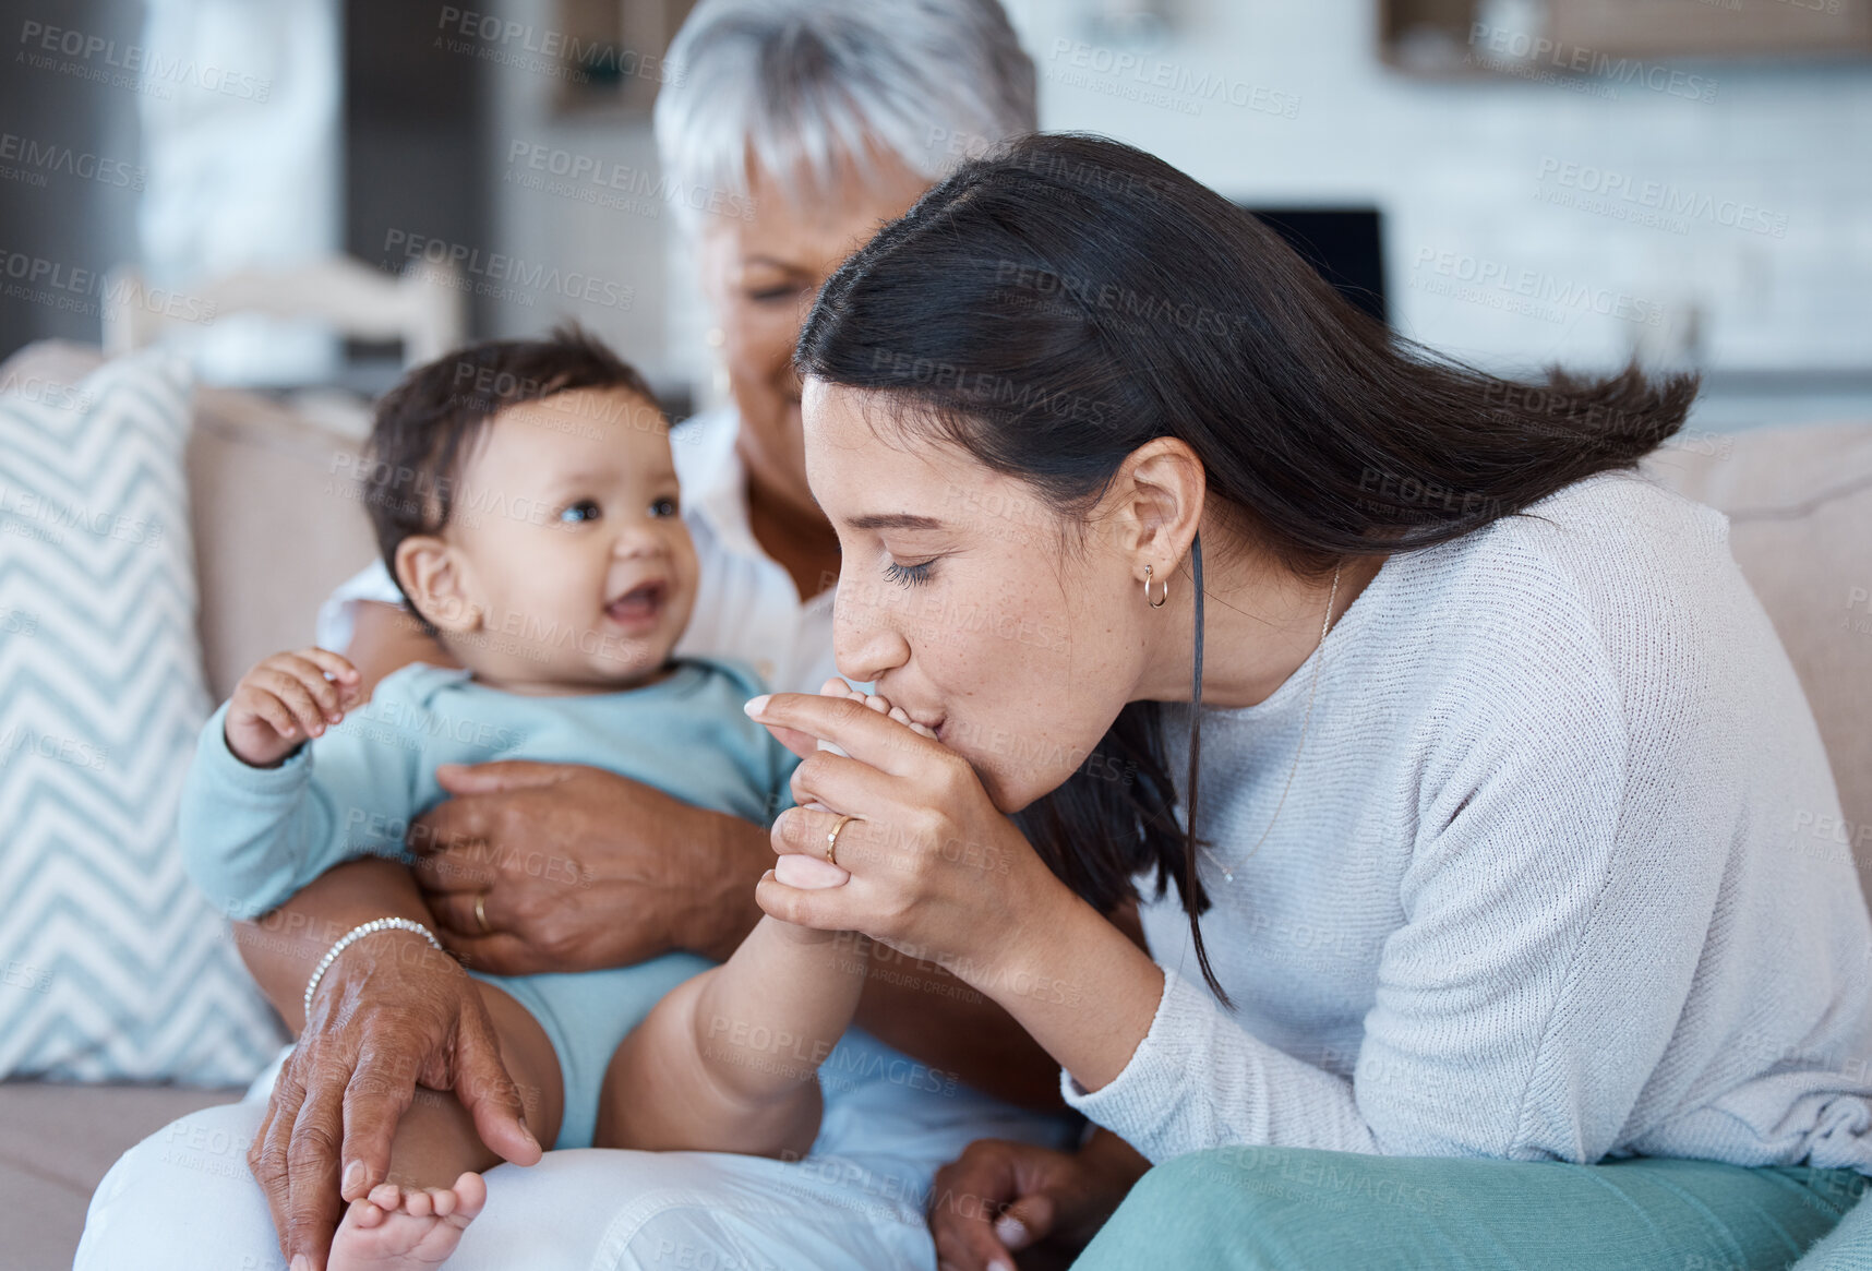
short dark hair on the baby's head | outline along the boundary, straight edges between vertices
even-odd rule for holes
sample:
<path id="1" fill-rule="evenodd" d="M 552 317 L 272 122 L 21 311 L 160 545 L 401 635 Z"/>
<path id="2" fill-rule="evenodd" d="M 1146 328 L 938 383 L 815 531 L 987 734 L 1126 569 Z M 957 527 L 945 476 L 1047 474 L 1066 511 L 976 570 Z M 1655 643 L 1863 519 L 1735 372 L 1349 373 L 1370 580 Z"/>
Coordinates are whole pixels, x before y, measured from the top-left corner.
<path id="1" fill-rule="evenodd" d="M 489 419 L 509 406 L 582 387 L 625 389 L 655 410 L 644 376 L 577 322 L 554 328 L 543 341 L 457 348 L 416 367 L 386 393 L 376 404 L 361 477 L 389 577 L 397 578 L 397 548 L 404 539 L 440 533 L 449 524 L 461 496 L 461 464 Z M 402 578 L 397 588 L 402 590 Z"/>

